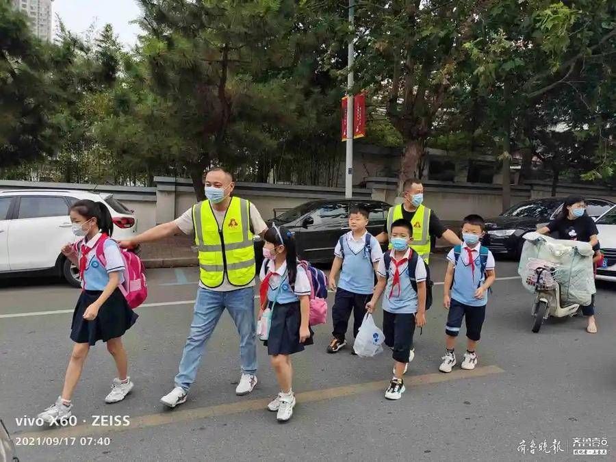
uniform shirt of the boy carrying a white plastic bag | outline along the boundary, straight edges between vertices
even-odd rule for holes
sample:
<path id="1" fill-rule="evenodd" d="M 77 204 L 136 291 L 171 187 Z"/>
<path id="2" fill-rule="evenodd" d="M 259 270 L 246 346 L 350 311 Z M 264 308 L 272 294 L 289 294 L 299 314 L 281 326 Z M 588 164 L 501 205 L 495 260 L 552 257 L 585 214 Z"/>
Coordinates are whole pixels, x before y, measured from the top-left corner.
<path id="1" fill-rule="evenodd" d="M 417 313 L 417 292 L 413 290 L 411 285 L 411 279 L 409 278 L 409 255 L 411 255 L 411 249 L 407 249 L 405 256 L 400 259 L 398 266 L 398 273 L 400 274 L 400 281 L 394 285 L 394 276 L 396 274 L 396 259 L 394 257 L 394 251 L 391 251 L 389 255 L 392 257 L 389 264 L 389 270 L 385 271 L 385 261 L 381 259 L 378 262 L 376 268 L 376 274 L 381 277 L 387 277 L 387 285 L 385 285 L 385 292 L 383 292 L 383 310 L 389 311 L 389 313 Z M 415 281 L 418 283 L 426 281 L 426 265 L 421 258 L 417 259 L 417 265 L 415 266 Z"/>

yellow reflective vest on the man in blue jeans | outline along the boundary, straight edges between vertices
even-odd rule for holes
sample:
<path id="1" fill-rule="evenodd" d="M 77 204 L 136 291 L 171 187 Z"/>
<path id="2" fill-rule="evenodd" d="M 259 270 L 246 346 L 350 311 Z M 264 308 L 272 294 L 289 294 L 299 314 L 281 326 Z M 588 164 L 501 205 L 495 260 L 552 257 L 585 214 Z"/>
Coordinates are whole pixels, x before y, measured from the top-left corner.
<path id="1" fill-rule="evenodd" d="M 222 229 L 209 201 L 192 206 L 194 241 L 199 251 L 201 283 L 218 287 L 224 274 L 231 285 L 242 286 L 255 278 L 255 248 L 250 218 L 251 203 L 231 198 Z"/>

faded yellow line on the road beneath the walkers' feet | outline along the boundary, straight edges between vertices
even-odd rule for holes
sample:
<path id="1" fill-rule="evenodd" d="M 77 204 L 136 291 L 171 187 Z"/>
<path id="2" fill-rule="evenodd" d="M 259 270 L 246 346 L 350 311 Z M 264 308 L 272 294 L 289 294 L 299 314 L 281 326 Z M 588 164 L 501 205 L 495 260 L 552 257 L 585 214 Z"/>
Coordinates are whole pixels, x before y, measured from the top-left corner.
<path id="1" fill-rule="evenodd" d="M 416 387 L 418 385 L 441 383 L 459 378 L 483 377 L 491 374 L 500 374 L 501 372 L 504 372 L 504 370 L 502 370 L 496 365 L 486 365 L 475 368 L 474 370 L 454 370 L 449 374 L 437 372 L 434 374 L 407 376 L 407 378 L 405 378 L 405 386 Z M 296 394 L 296 398 L 298 403 L 302 405 L 305 402 L 332 400 L 335 398 L 344 398 L 346 396 L 354 396 L 367 392 L 382 392 L 387 387 L 387 385 L 389 385 L 389 381 L 356 383 L 353 385 L 343 385 L 342 387 L 333 387 L 327 389 L 312 390 L 311 392 L 302 392 Z M 139 417 L 131 418 L 130 426 L 77 425 L 64 428 L 48 428 L 41 431 L 34 431 L 23 434 L 16 432 L 13 435 L 19 435 L 20 437 L 90 437 L 94 435 L 104 435 L 106 433 L 119 433 L 131 430 L 140 430 L 142 428 L 149 428 L 159 425 L 191 422 L 193 420 L 207 419 L 220 415 L 233 415 L 248 411 L 259 410 L 265 412 L 268 402 L 270 402 L 270 398 L 229 402 L 224 405 L 198 407 L 196 409 L 185 409 L 183 411 L 168 410 L 162 413 L 140 415 Z"/>

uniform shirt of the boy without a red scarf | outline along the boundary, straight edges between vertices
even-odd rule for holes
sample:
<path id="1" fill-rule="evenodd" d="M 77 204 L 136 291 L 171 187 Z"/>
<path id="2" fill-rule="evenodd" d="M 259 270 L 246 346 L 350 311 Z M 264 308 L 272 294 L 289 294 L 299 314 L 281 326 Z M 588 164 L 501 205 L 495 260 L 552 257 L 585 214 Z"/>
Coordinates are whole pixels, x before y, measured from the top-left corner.
<path id="1" fill-rule="evenodd" d="M 342 258 L 342 271 L 338 287 L 353 294 L 369 295 L 374 290 L 374 267 L 372 264 L 383 259 L 381 244 L 370 235 L 370 255 L 365 250 L 365 231 L 361 238 L 355 239 L 349 231 L 342 236 L 342 246 L 338 240 L 334 255 Z M 344 246 L 344 248 L 342 248 Z M 344 254 L 344 255 L 343 255 Z"/>

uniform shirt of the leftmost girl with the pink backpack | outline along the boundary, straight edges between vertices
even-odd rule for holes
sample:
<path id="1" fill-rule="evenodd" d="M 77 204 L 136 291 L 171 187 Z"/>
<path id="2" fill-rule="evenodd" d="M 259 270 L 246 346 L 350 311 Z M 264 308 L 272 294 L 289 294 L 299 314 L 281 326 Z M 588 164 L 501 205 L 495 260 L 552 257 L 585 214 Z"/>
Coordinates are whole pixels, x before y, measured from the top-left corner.
<path id="1" fill-rule="evenodd" d="M 101 235 L 101 233 L 97 233 L 88 242 L 84 243 L 82 240 L 75 244 L 78 251 L 77 264 L 81 260 L 83 247 L 85 246 L 88 250 L 84 279 L 81 281 L 81 287 L 85 290 L 105 290 L 105 286 L 109 283 L 109 273 L 111 272 L 121 271 L 120 284 L 124 282 L 124 259 L 116 241 L 107 239 L 105 244 L 103 244 L 103 255 L 105 255 L 105 260 L 107 260 L 105 266 L 101 264 L 97 257 L 97 250 L 94 246 L 99 242 Z"/>

